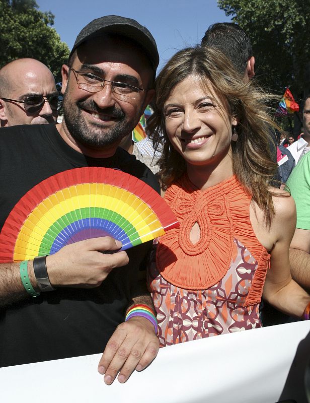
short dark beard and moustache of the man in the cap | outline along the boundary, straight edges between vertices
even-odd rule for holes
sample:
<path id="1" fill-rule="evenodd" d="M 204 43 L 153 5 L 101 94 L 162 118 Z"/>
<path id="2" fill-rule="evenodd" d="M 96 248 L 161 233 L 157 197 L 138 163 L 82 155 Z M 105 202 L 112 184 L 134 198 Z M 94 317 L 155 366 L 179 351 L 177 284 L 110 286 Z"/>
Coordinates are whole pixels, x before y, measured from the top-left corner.
<path id="1" fill-rule="evenodd" d="M 92 122 L 88 126 L 82 116 L 82 110 L 93 111 L 99 114 L 107 114 L 116 119 L 110 128 L 103 127 L 104 122 Z M 87 147 L 101 148 L 119 142 L 127 136 L 139 121 L 143 110 L 138 110 L 136 115 L 128 120 L 125 113 L 117 107 L 99 109 L 92 100 L 78 101 L 75 105 L 70 102 L 68 94 L 63 98 L 63 118 L 65 125 L 73 139 Z"/>

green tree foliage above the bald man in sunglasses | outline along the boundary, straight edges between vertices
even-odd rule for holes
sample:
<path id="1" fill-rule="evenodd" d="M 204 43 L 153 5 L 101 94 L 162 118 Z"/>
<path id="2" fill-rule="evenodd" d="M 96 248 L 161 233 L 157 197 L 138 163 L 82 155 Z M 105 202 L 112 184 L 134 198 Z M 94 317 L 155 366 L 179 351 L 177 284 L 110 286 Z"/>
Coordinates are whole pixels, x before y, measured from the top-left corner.
<path id="1" fill-rule="evenodd" d="M 61 65 L 69 48 L 52 28 L 54 16 L 38 10 L 35 0 L 0 0 L 0 68 L 21 57 L 46 64 L 56 83 L 61 82 Z"/>

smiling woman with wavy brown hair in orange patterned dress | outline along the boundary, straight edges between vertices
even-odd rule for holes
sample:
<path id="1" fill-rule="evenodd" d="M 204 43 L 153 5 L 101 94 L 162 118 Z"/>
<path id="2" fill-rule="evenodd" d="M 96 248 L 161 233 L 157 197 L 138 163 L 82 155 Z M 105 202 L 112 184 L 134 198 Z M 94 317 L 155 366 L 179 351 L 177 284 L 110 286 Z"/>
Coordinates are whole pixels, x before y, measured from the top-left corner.
<path id="1" fill-rule="evenodd" d="M 289 271 L 294 201 L 270 187 L 272 98 L 214 48 L 181 50 L 156 80 L 149 130 L 180 222 L 148 271 L 162 346 L 260 327 L 262 295 L 299 317 L 310 302 Z"/>

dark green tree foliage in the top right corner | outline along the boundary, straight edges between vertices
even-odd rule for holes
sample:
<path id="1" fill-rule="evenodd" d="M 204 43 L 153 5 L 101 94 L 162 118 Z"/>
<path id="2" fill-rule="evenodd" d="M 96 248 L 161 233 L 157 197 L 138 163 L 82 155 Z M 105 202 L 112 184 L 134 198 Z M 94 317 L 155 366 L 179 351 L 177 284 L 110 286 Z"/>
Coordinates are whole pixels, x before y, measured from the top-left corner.
<path id="1" fill-rule="evenodd" d="M 278 93 L 310 89 L 309 0 L 218 0 L 250 37 L 259 82 Z"/>

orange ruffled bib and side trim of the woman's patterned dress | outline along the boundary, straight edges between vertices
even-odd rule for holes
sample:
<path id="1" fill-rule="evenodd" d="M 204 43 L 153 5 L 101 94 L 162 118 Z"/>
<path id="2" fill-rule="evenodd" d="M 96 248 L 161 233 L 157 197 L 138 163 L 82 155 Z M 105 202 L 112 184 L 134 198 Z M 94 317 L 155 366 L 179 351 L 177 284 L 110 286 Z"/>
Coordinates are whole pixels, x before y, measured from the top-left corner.
<path id="1" fill-rule="evenodd" d="M 236 176 L 200 190 L 185 174 L 168 188 L 165 200 L 180 227 L 160 238 L 156 264 L 161 276 L 183 289 L 208 289 L 227 273 L 235 238 L 258 262 L 246 305 L 258 303 L 270 255 L 256 238 L 250 221 L 251 196 Z M 200 239 L 193 244 L 190 231 L 196 222 Z"/>

